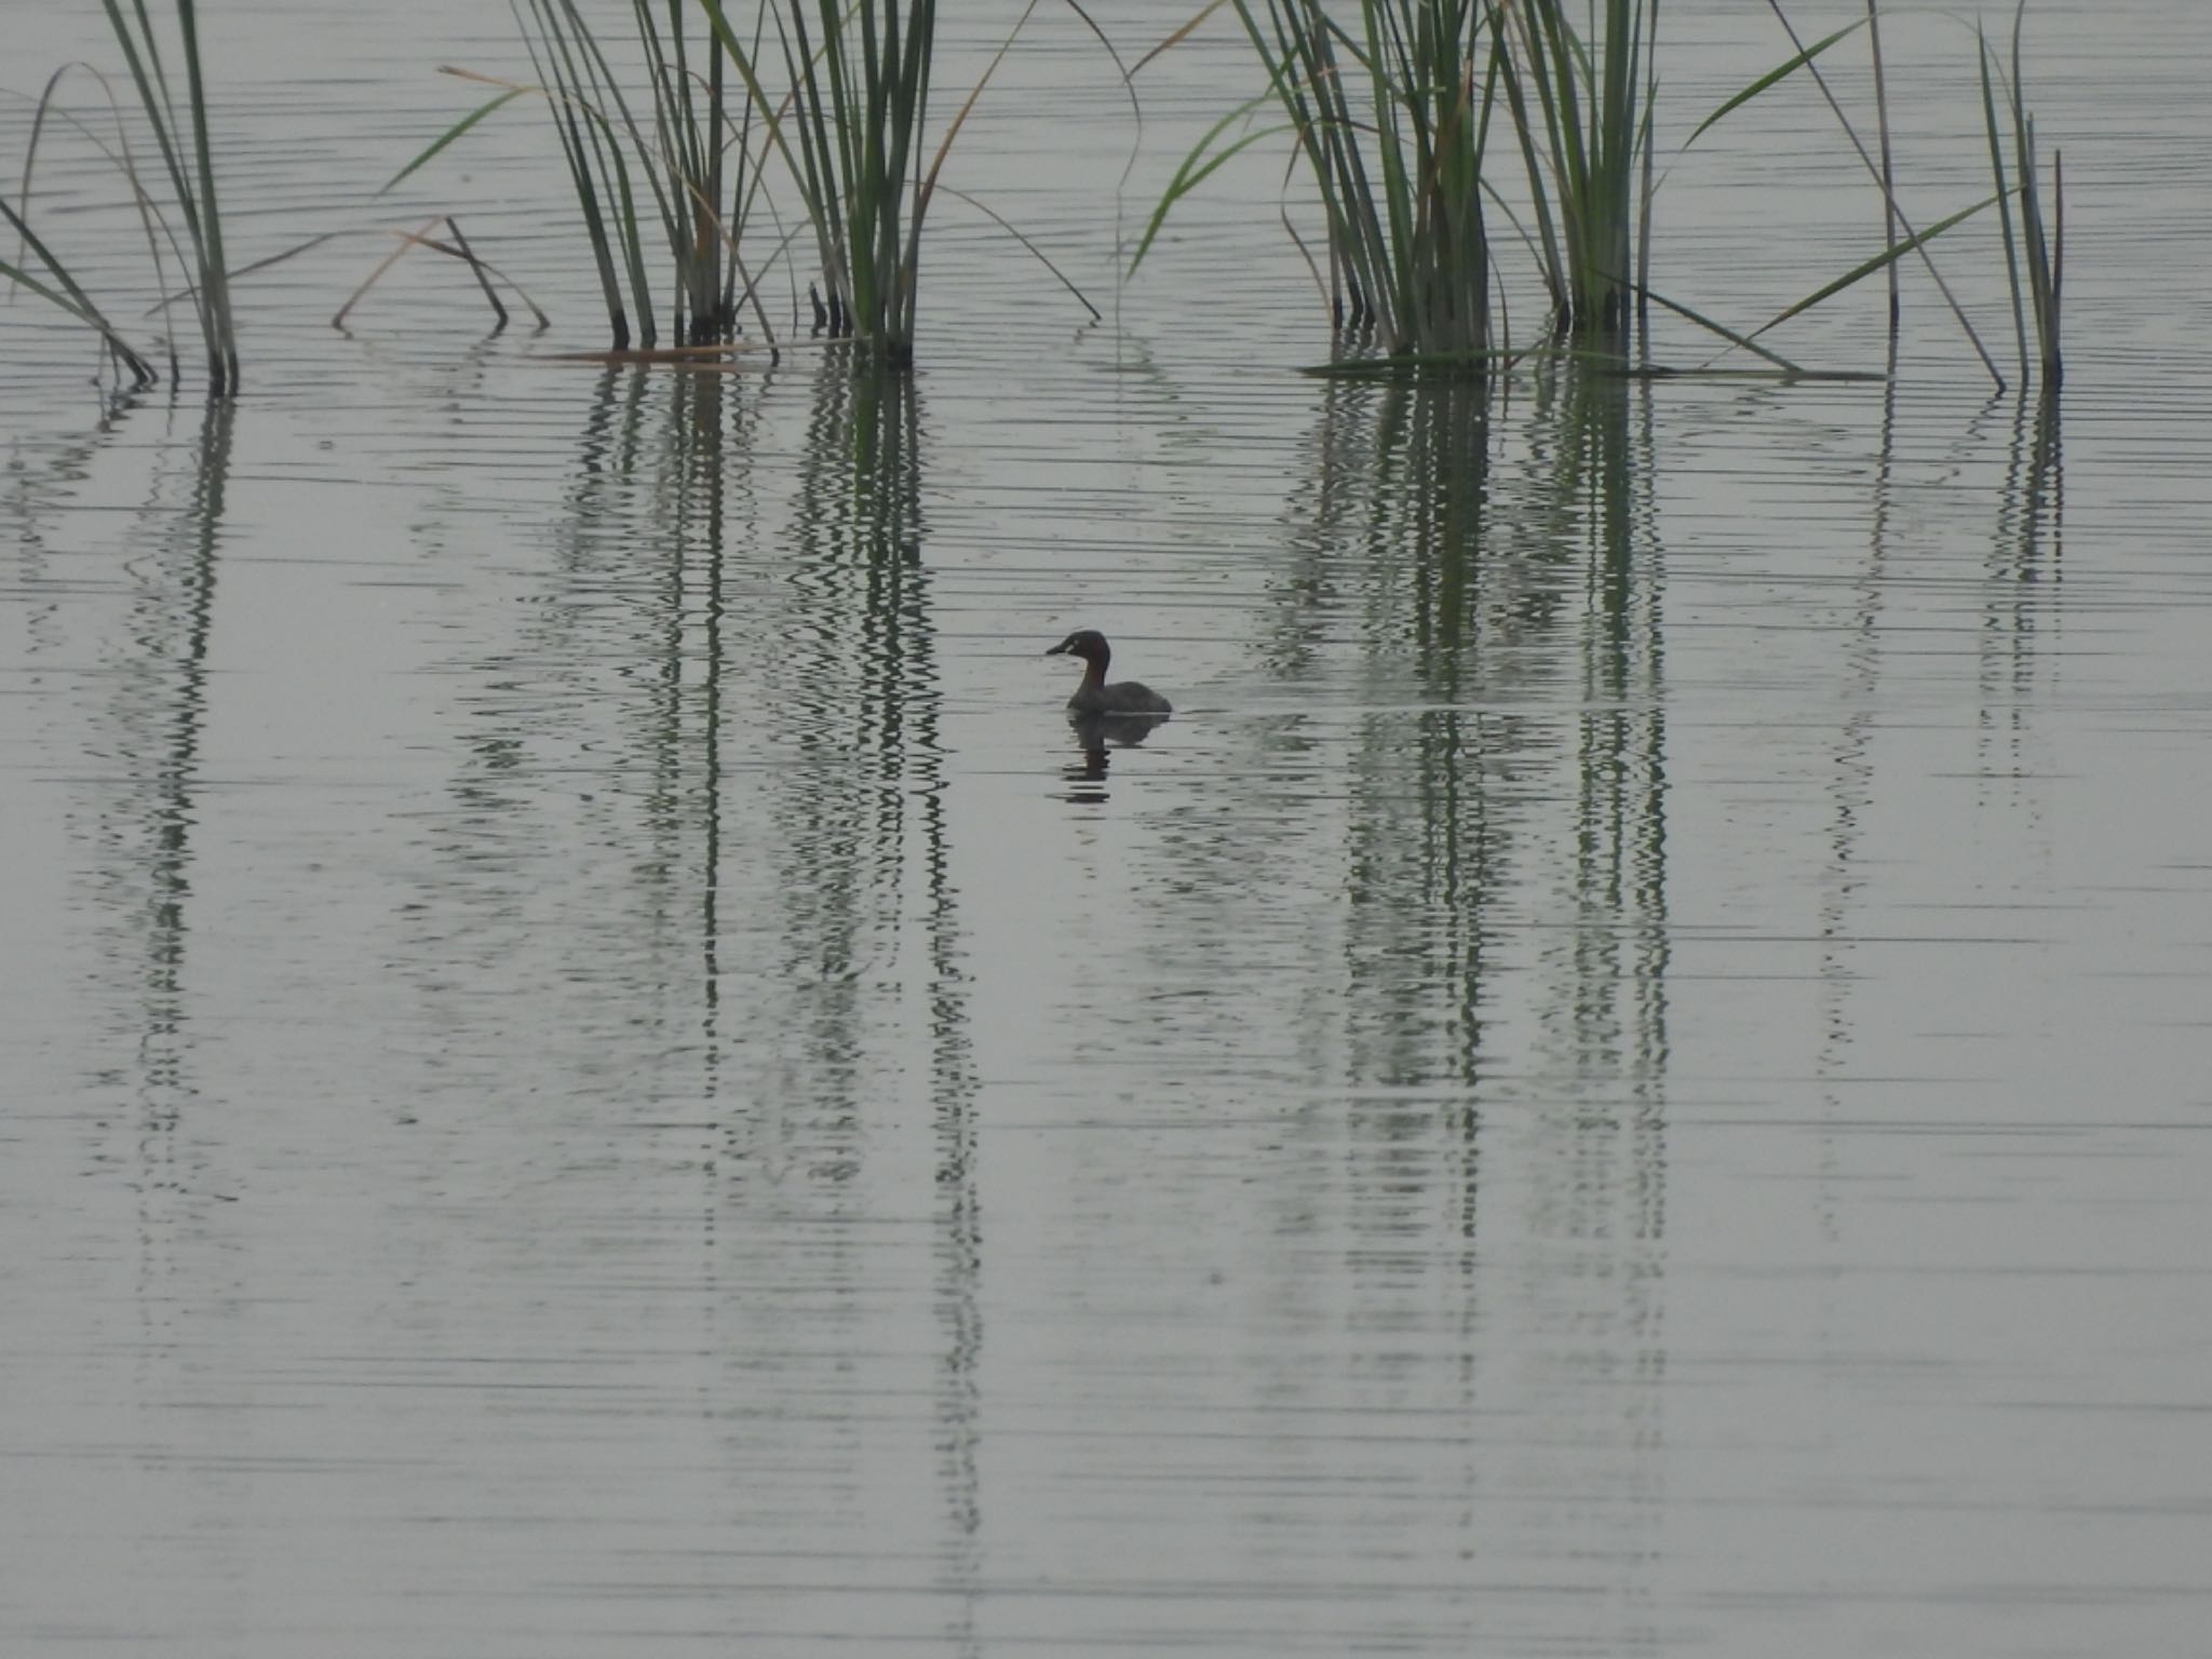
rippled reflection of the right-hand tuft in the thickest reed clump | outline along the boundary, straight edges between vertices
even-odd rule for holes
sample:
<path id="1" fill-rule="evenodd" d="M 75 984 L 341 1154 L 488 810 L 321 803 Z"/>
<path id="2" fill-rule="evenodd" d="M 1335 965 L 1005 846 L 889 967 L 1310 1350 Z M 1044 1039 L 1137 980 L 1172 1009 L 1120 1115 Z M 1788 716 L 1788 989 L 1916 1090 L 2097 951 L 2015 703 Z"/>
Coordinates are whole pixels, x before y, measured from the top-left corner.
<path id="1" fill-rule="evenodd" d="M 1544 1369 L 1564 1391 L 1557 1431 L 1597 1451 L 1590 1473 L 1617 1500 L 1599 1511 L 1621 1564 L 1608 1575 L 1621 1595 L 1615 1650 L 1655 1646 L 1637 1608 L 1657 1559 L 1666 1449 L 1672 922 L 1652 400 L 1650 380 L 1535 378 L 1515 418 L 1531 453 L 1458 542 L 1475 591 L 1453 611 L 1467 617 L 1460 655 L 1478 668 L 1495 659 L 1480 679 L 1495 759 L 1473 776 L 1460 768 L 1484 825 L 1464 907 L 1475 929 L 1504 918 L 1491 951 L 1467 962 L 1462 1053 L 1475 1102 L 1502 1093 L 1502 1079 L 1480 1077 L 1475 1044 L 1495 960 L 1502 982 L 1524 982 L 1522 1006 L 1498 1011 L 1524 1024 L 1509 1051 L 1542 1055 L 1546 1073 L 1515 1194 L 1528 1206 L 1528 1294 L 1546 1318 L 1606 1334 Z M 1444 812 L 1471 807 L 1440 799 L 1425 821 Z"/>

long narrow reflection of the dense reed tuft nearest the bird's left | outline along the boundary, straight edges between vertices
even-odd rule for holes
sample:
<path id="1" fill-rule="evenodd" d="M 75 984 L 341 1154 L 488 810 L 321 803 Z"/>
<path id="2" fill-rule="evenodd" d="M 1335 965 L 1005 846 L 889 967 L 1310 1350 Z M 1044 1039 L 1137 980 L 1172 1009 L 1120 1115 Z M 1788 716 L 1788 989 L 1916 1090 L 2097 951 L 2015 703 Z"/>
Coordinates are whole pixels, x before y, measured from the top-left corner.
<path id="1" fill-rule="evenodd" d="M 843 349 L 823 356 L 781 573 L 783 648 L 770 670 L 770 697 L 783 710 L 781 761 L 765 781 L 776 967 L 748 984 L 783 1013 L 774 1086 L 757 1102 L 763 1119 L 847 1121 L 854 1157 L 896 1146 L 900 1121 L 922 1117 L 929 1126 L 927 1150 L 916 1152 L 936 1194 L 931 1391 L 945 1531 L 933 1557 L 945 1637 L 973 1652 L 984 1340 L 978 1075 L 967 938 L 951 880 L 942 672 L 922 557 L 925 431 L 911 376 L 876 374 Z M 916 1044 L 927 1055 L 920 1077 Z M 925 1102 L 914 1102 L 920 1115 L 905 1110 L 907 1079 L 925 1086 Z M 730 1150 L 732 1170 L 754 1152 L 743 1139 Z M 821 1283 L 832 1274 L 863 1290 L 878 1272 L 863 1241 L 865 1232 L 838 1245 L 816 1237 L 801 1276 Z M 838 1265 L 830 1250 L 854 1254 Z M 796 1336 L 801 1349 L 821 1349 L 827 1338 L 852 1354 L 872 1354 L 883 1340 L 860 1301 L 834 1334 Z"/>

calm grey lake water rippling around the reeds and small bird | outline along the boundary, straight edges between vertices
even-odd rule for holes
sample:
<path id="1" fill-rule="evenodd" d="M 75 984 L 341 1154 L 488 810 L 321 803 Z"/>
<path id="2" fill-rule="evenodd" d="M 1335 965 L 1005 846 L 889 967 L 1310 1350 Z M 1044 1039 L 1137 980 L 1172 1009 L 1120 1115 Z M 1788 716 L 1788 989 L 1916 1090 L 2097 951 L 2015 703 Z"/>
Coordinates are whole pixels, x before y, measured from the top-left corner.
<path id="1" fill-rule="evenodd" d="M 2203 1650 L 2201 7 L 2031 15 L 2055 418 L 1920 272 L 1889 383 L 1298 376 L 1279 146 L 1113 276 L 1248 49 L 1139 139 L 1064 11 L 947 177 L 1102 323 L 942 199 L 907 389 L 560 363 L 542 113 L 369 199 L 507 13 L 208 11 L 239 261 L 451 210 L 555 330 L 416 259 L 332 332 L 354 234 L 208 409 L 0 307 L 0 1648 Z M 13 91 L 113 62 L 0 22 Z M 1787 51 L 1666 33 L 1666 155 Z M 1887 44 L 1936 219 L 1971 38 Z M 1854 170 L 1741 111 L 1657 281 L 1765 321 L 1876 246 Z M 1938 248 L 2011 365 L 1993 228 Z M 1141 745 L 1064 723 L 1075 626 Z"/>

